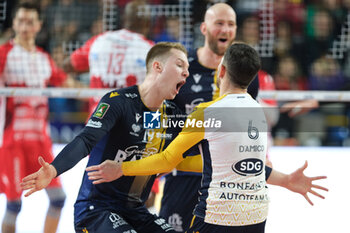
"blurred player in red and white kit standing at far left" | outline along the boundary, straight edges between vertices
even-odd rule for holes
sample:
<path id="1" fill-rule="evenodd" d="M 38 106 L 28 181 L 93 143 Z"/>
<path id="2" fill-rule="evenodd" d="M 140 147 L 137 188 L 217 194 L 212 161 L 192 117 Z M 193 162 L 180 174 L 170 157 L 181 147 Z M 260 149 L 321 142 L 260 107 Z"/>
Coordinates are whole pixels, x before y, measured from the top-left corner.
<path id="1" fill-rule="evenodd" d="M 28 2 L 20 3 L 13 19 L 15 37 L 0 46 L 0 82 L 4 86 L 44 88 L 58 86 L 65 81 L 66 74 L 35 45 L 40 29 L 39 7 Z M 0 119 L 5 120 L 1 121 L 0 171 L 1 189 L 7 197 L 2 232 L 13 233 L 21 210 L 22 189 L 18 182 L 40 167 L 37 164 L 39 155 L 47 161 L 52 161 L 54 157 L 47 97 L 16 96 L 2 101 Z M 58 179 L 50 183 L 46 192 L 50 204 L 44 232 L 56 232 L 66 196 Z"/>

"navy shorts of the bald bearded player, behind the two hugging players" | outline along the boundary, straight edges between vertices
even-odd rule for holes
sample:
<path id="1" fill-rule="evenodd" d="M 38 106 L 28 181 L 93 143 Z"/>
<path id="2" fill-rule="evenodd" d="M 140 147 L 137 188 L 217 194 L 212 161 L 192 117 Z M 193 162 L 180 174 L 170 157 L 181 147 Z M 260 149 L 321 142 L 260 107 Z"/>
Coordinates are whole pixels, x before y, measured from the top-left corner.
<path id="1" fill-rule="evenodd" d="M 166 219 L 176 232 L 185 232 L 191 224 L 201 180 L 198 175 L 166 176 L 159 216 Z"/>

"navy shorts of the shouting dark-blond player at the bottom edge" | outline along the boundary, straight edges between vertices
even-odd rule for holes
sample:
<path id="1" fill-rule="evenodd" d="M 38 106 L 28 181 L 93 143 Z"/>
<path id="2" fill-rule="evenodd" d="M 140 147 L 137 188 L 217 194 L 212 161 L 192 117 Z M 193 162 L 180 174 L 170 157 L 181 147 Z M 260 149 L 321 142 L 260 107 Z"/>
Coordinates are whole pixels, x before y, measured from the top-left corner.
<path id="1" fill-rule="evenodd" d="M 145 211 L 144 211 L 145 210 Z M 92 210 L 75 225 L 83 233 L 175 233 L 174 229 L 146 208 L 141 211 Z"/>

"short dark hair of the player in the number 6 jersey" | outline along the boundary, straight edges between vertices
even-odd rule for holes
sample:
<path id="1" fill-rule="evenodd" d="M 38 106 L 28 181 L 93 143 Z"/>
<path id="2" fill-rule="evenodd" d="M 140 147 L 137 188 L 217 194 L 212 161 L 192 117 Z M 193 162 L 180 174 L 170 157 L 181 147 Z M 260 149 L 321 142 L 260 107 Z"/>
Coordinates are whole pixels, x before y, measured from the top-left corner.
<path id="1" fill-rule="evenodd" d="M 246 89 L 261 68 L 258 53 L 247 44 L 234 43 L 225 52 L 223 65 L 232 83 Z"/>

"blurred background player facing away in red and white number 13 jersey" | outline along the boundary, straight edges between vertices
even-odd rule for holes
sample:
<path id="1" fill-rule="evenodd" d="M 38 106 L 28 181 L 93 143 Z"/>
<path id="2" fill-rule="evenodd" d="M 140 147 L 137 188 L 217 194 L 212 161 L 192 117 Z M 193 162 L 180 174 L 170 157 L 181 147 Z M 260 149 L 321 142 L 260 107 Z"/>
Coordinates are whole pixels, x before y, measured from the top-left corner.
<path id="1" fill-rule="evenodd" d="M 145 58 L 153 46 L 146 39 L 150 13 L 145 1 L 134 0 L 124 9 L 123 29 L 89 39 L 65 61 L 67 72 L 90 72 L 91 88 L 124 88 L 140 84 L 146 75 Z M 89 113 L 99 97 L 90 100 Z"/>

